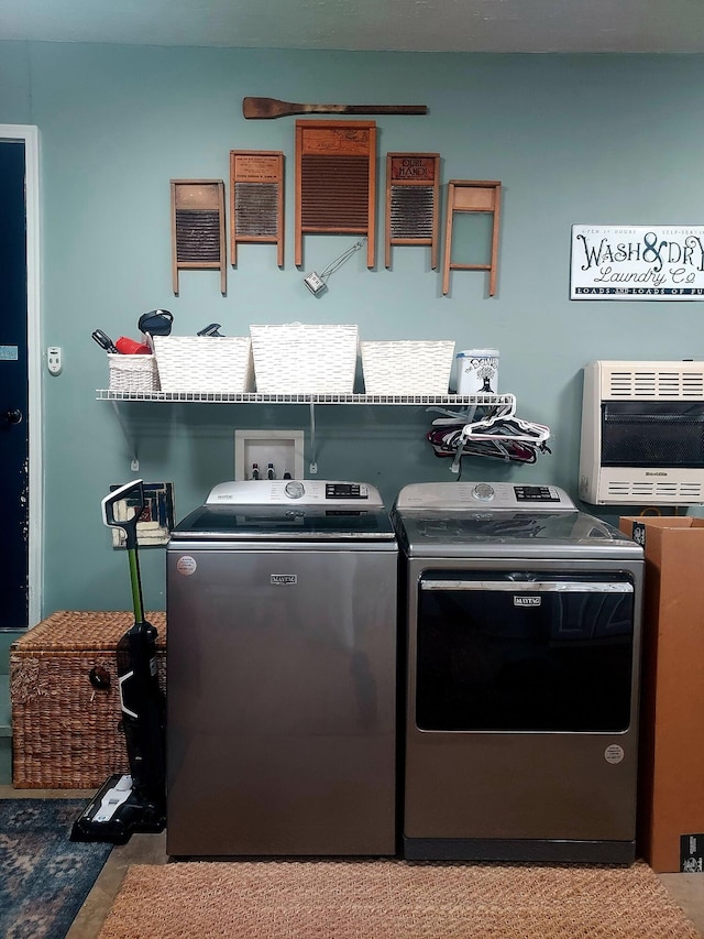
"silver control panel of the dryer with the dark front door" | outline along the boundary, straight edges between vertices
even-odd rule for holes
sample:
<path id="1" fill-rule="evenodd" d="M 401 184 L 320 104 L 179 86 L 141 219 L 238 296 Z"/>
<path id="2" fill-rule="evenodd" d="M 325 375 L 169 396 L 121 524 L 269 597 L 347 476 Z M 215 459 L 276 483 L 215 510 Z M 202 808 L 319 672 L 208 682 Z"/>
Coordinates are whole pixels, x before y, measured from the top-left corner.
<path id="1" fill-rule="evenodd" d="M 557 485 L 510 482 L 419 482 L 398 493 L 396 509 L 556 509 L 575 511 L 574 502 Z"/>

